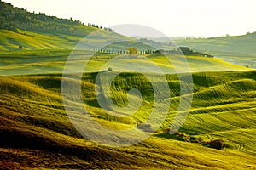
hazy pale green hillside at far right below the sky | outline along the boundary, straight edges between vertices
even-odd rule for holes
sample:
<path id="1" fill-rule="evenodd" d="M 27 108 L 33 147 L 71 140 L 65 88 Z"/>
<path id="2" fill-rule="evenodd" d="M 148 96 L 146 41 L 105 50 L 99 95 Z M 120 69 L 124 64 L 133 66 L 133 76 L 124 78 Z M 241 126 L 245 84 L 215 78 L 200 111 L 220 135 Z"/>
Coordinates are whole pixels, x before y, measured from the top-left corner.
<path id="1" fill-rule="evenodd" d="M 236 37 L 177 40 L 176 42 L 179 46 L 188 46 L 198 51 L 213 54 L 234 64 L 256 67 L 256 33 Z"/>

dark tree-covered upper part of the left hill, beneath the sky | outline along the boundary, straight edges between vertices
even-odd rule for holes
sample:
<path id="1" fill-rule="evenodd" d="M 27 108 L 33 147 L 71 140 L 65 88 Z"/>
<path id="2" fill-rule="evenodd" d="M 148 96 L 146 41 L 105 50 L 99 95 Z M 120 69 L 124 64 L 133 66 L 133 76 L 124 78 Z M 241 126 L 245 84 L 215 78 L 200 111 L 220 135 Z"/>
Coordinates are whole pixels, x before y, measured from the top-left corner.
<path id="1" fill-rule="evenodd" d="M 91 31 L 95 31 L 96 27 L 98 26 L 85 26 L 79 20 L 59 19 L 44 13 L 30 13 L 26 11 L 26 8 L 16 8 L 10 3 L 0 1 L 1 29 L 85 37 Z"/>

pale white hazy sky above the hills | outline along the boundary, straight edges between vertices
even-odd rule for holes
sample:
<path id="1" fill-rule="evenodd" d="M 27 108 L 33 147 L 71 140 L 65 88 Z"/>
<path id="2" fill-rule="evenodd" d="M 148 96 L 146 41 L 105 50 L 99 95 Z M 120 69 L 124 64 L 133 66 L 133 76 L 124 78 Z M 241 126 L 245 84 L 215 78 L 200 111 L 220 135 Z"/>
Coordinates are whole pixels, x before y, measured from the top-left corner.
<path id="1" fill-rule="evenodd" d="M 167 36 L 256 31 L 255 0 L 3 0 L 28 11 L 100 26 L 140 24 Z"/>

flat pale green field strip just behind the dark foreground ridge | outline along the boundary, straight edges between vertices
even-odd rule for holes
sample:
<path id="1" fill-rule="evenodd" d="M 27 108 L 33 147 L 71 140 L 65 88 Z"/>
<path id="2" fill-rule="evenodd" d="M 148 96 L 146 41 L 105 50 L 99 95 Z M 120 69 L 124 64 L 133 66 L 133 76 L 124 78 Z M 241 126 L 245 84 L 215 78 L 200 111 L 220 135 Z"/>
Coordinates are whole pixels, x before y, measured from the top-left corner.
<path id="1" fill-rule="evenodd" d="M 0 55 L 0 75 L 26 75 L 61 73 L 67 61 L 67 56 L 71 50 L 21 50 L 5 52 Z M 79 58 L 88 59 L 91 52 L 77 52 Z M 87 65 L 87 71 L 100 71 L 112 67 L 114 71 L 131 71 L 131 68 L 140 68 L 141 71 L 155 71 L 154 65 L 158 65 L 164 72 L 173 73 L 174 68 L 183 69 L 182 57 L 178 55 L 167 56 L 172 60 L 172 65 L 166 57 L 159 54 L 148 55 L 148 60 L 140 57 L 136 59 L 116 59 L 114 63 L 108 63 L 110 59 L 118 57 L 117 54 L 96 54 Z M 73 56 L 77 58 L 77 56 Z M 242 71 L 248 70 L 246 67 L 232 65 L 221 59 L 209 59 L 196 56 L 187 56 L 187 61 L 191 71 Z M 81 65 L 81 59 L 73 60 L 73 68 Z M 139 67 L 138 67 L 139 66 Z"/>

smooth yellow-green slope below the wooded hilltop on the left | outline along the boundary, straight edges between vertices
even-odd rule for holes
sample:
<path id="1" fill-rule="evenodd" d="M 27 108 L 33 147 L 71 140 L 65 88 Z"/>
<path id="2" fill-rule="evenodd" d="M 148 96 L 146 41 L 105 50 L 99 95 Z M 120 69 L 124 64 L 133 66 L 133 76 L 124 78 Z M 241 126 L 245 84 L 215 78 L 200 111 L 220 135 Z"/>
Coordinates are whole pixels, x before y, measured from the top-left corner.
<path id="1" fill-rule="evenodd" d="M 85 35 L 96 31 L 95 39 L 88 39 L 87 42 L 104 42 L 109 39 L 123 38 L 127 41 L 134 38 L 125 37 L 117 33 L 112 33 L 90 26 L 79 26 Z M 85 36 L 84 36 L 85 37 Z M 84 37 L 77 37 L 65 34 L 38 33 L 33 31 L 8 31 L 0 29 L 0 52 L 19 51 L 21 45 L 23 49 L 73 49 Z M 137 45 L 137 44 L 136 44 Z M 117 48 L 123 48 L 122 45 Z"/>

